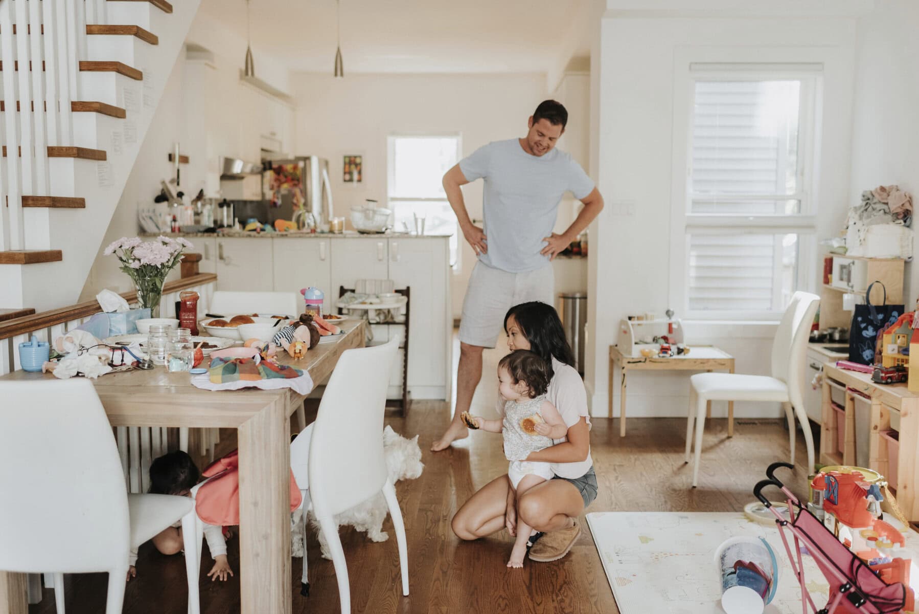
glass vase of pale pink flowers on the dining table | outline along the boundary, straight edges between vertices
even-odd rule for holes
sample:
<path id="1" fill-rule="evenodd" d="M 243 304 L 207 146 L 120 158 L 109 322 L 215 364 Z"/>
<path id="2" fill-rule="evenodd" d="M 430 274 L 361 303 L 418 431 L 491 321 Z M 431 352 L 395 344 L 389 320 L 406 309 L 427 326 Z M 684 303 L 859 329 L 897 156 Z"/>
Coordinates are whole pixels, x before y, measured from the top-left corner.
<path id="1" fill-rule="evenodd" d="M 160 317 L 160 298 L 166 275 L 182 260 L 182 251 L 192 248 L 184 238 L 156 237 L 142 241 L 139 237 L 121 237 L 103 252 L 115 254 L 121 261 L 121 271 L 126 272 L 134 287 L 141 307 L 150 308 L 150 317 Z"/>

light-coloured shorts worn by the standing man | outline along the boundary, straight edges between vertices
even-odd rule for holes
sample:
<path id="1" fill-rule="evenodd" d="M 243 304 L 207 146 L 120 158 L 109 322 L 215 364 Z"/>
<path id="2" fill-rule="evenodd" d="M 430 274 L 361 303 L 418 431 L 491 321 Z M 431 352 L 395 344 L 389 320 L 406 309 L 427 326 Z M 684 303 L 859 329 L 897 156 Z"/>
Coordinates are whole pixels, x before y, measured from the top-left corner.
<path id="1" fill-rule="evenodd" d="M 555 273 L 551 264 L 536 271 L 506 272 L 476 262 L 462 304 L 459 341 L 493 348 L 507 310 L 529 301 L 555 307 Z"/>

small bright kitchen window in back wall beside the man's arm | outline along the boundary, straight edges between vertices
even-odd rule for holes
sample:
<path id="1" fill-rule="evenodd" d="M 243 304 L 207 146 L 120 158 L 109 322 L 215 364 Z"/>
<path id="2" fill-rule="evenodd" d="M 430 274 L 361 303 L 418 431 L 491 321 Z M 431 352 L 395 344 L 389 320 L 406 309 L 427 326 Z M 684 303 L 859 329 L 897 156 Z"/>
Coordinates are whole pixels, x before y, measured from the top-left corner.
<path id="1" fill-rule="evenodd" d="M 441 180 L 459 162 L 459 135 L 389 137 L 389 208 L 396 230 L 414 232 L 425 218 L 425 234 L 450 236 L 450 266 L 459 272 L 459 228 Z"/>

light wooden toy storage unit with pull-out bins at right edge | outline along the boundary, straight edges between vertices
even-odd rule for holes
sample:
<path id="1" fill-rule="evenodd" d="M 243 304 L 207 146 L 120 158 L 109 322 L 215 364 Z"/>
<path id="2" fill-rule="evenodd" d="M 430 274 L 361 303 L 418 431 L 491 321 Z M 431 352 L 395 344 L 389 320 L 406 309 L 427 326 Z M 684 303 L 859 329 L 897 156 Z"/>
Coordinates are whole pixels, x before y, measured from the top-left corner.
<path id="1" fill-rule="evenodd" d="M 830 396 L 830 380 L 839 382 L 868 397 L 871 402 L 868 426 L 868 469 L 886 476 L 888 471 L 887 440 L 881 431 L 899 422 L 900 451 L 897 457 L 897 503 L 910 521 L 919 520 L 919 498 L 916 497 L 916 477 L 919 476 L 919 394 L 910 392 L 906 384 L 876 384 L 867 373 L 840 369 L 833 363 L 823 365 L 823 425 L 820 437 L 820 460 L 827 465 L 856 464 L 856 420 L 853 395 L 845 395 L 845 449 L 836 450 L 836 420 Z M 898 421 L 899 419 L 899 421 Z"/>

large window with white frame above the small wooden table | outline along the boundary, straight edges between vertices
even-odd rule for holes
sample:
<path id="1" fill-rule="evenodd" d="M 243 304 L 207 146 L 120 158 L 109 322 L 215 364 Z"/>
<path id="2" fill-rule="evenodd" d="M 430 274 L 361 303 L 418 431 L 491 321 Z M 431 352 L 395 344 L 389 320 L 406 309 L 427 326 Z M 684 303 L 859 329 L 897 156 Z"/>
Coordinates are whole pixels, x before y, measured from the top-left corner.
<path id="1" fill-rule="evenodd" d="M 819 68 L 690 65 L 673 267 L 687 317 L 774 318 L 808 285 Z"/>

